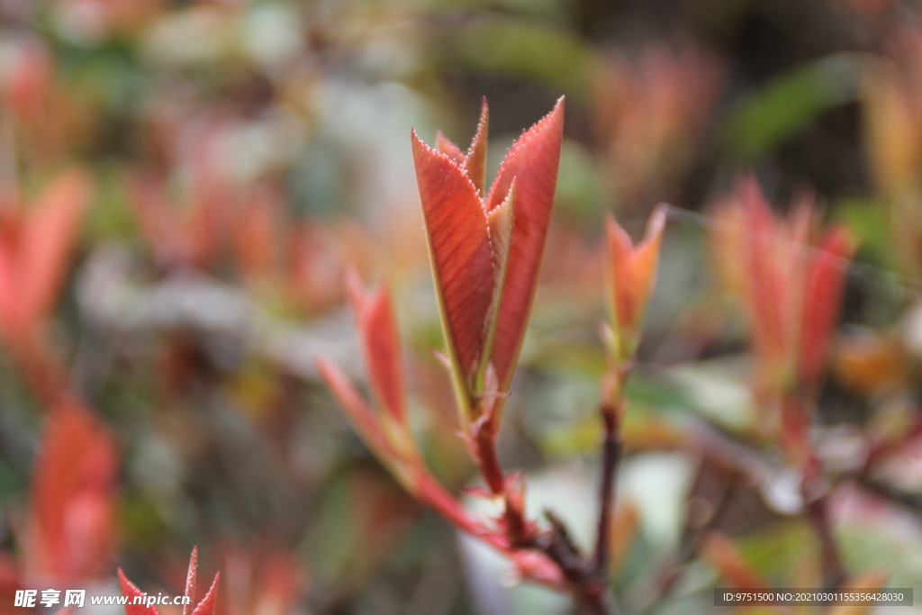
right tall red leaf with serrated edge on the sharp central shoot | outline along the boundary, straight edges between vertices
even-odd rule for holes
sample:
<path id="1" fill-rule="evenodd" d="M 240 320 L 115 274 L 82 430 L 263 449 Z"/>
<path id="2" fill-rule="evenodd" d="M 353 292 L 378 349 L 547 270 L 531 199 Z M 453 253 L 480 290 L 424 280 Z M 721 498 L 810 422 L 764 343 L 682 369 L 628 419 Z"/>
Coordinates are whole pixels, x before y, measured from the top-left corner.
<path id="1" fill-rule="evenodd" d="M 487 198 L 487 210 L 492 211 L 502 204 L 515 182 L 513 242 L 492 350 L 501 390 L 508 390 L 512 380 L 535 297 L 557 186 L 562 138 L 561 98 L 553 111 L 515 141 L 502 160 Z"/>

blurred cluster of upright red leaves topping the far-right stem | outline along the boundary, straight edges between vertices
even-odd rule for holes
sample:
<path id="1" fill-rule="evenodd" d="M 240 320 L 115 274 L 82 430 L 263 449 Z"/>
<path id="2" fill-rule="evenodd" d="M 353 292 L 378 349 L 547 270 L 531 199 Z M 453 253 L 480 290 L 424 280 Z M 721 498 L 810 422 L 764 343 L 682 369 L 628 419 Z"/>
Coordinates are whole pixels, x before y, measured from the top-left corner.
<path id="1" fill-rule="evenodd" d="M 728 285 L 739 293 L 760 361 L 762 385 L 815 386 L 822 374 L 842 303 L 854 242 L 841 227 L 814 237 L 813 198 L 775 216 L 754 178 L 718 209 L 715 243 Z"/>

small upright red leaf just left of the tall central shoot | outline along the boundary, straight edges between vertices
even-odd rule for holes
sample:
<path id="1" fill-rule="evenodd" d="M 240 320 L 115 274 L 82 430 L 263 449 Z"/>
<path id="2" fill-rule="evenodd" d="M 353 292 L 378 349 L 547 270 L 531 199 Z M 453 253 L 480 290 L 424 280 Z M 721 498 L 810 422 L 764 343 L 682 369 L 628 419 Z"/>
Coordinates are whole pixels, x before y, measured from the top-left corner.
<path id="1" fill-rule="evenodd" d="M 390 415 L 402 423 L 406 411 L 404 374 L 396 319 L 387 287 L 380 284 L 366 295 L 354 275 L 349 276 L 348 284 L 374 394 Z"/>

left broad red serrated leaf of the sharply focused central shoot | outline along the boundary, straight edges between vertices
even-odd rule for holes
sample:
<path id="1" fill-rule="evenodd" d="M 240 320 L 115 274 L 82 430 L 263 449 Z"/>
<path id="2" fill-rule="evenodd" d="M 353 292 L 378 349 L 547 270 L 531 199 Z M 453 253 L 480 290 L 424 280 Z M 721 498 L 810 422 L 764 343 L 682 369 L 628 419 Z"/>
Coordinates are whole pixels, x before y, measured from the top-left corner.
<path id="1" fill-rule="evenodd" d="M 493 293 L 487 216 L 467 173 L 413 132 L 413 160 L 449 355 L 476 373 Z"/>

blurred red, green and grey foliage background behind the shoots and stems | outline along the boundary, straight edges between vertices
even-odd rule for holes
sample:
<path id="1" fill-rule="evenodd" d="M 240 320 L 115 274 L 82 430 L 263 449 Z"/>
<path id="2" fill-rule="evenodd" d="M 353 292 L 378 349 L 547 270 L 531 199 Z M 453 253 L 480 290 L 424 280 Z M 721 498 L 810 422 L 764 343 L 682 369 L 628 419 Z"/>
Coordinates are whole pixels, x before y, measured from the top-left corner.
<path id="1" fill-rule="evenodd" d="M 920 77 L 922 6 L 897 0 L 0 0 L 0 613 L 23 586 L 117 593 L 117 566 L 179 594 L 194 545 L 228 615 L 572 611 L 409 498 L 313 364 L 361 380 L 343 274 L 387 278 L 420 443 L 471 485 L 409 132 L 466 143 L 483 96 L 492 169 L 567 97 L 501 438 L 530 510 L 591 538 L 602 221 L 636 237 L 667 202 L 613 586 L 693 614 L 715 585 L 821 585 L 712 241 L 752 172 L 860 242 L 814 432 L 847 569 L 918 593 Z"/>

